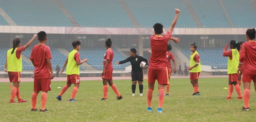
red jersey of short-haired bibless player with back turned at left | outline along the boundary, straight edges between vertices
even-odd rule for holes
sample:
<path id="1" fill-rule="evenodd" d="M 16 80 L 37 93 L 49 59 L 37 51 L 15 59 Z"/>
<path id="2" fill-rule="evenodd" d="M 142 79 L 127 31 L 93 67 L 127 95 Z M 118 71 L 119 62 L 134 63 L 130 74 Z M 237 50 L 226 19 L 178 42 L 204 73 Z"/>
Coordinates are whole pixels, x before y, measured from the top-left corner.
<path id="1" fill-rule="evenodd" d="M 33 47 L 30 60 L 34 61 L 35 79 L 44 79 L 50 77 L 50 69 L 46 63 L 46 59 L 51 59 L 51 50 L 44 44 L 37 44 Z"/>

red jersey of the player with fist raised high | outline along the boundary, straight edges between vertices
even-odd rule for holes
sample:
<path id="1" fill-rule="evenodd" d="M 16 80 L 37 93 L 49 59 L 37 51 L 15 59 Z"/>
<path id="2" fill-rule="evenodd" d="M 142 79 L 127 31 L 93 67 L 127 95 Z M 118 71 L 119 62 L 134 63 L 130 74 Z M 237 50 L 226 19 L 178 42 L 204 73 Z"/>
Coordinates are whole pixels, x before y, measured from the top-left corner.
<path id="1" fill-rule="evenodd" d="M 149 65 L 151 67 L 159 67 L 164 66 L 167 67 L 167 43 L 171 38 L 170 32 L 167 32 L 164 36 L 158 37 L 156 35 L 151 35 L 150 37 L 150 45 L 152 54 L 150 57 Z"/>

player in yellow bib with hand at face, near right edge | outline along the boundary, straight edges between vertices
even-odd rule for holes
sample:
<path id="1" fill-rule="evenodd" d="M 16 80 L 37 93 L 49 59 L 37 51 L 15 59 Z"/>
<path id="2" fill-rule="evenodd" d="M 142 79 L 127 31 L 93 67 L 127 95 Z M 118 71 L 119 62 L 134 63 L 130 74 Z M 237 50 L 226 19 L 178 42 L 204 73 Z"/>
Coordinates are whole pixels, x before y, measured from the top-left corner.
<path id="1" fill-rule="evenodd" d="M 235 89 L 238 94 L 237 99 L 242 99 L 241 89 L 240 86 L 237 84 L 238 81 L 238 74 L 237 74 L 237 67 L 239 64 L 239 50 L 240 50 L 240 44 L 237 41 L 231 40 L 230 41 L 230 49 L 228 49 L 229 43 L 226 44 L 223 56 L 229 57 L 228 58 L 228 74 L 229 74 L 229 95 L 227 100 L 231 99 L 231 95 L 233 92 L 233 85 L 235 86 Z"/>

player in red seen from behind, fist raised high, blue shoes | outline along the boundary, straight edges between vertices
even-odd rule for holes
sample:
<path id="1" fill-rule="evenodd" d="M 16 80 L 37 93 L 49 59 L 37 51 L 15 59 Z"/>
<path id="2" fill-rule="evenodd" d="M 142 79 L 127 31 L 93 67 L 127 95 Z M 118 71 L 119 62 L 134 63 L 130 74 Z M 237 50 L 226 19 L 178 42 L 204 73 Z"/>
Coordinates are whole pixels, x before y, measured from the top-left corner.
<path id="1" fill-rule="evenodd" d="M 159 101 L 158 101 L 158 113 L 162 113 L 162 105 L 164 102 L 164 86 L 169 84 L 168 79 L 168 70 L 167 70 L 167 43 L 171 38 L 172 31 L 174 26 L 178 20 L 178 16 L 180 13 L 179 9 L 175 9 L 176 15 L 172 21 L 171 27 L 167 31 L 167 33 L 162 36 L 163 33 L 163 25 L 160 23 L 156 23 L 154 27 L 155 35 L 151 35 L 151 49 L 152 54 L 150 57 L 150 67 L 148 68 L 148 90 L 147 90 L 147 111 L 151 112 L 151 103 L 152 103 L 152 94 L 154 90 L 155 80 L 158 81 L 158 91 L 159 91 Z"/>

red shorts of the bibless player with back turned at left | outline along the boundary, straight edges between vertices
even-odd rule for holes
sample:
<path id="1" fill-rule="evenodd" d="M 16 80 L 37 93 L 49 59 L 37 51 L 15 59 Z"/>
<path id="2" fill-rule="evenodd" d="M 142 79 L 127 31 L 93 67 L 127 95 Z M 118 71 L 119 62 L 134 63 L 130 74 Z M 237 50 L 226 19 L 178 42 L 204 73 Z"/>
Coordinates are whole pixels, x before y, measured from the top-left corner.
<path id="1" fill-rule="evenodd" d="M 51 91 L 51 79 L 34 79 L 34 91 Z"/>

